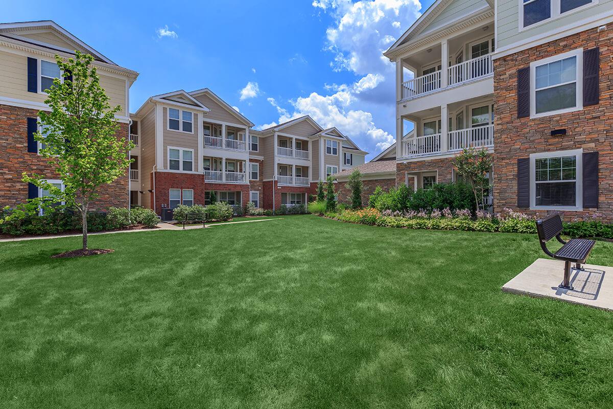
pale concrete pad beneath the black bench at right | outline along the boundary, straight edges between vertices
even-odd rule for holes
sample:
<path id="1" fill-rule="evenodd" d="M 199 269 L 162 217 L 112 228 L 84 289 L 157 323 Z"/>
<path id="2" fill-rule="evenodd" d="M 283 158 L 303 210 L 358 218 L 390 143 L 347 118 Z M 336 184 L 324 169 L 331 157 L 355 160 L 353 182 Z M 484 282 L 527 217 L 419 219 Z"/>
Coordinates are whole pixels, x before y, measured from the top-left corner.
<path id="1" fill-rule="evenodd" d="M 582 266 L 585 270 L 571 271 L 571 285 L 574 290 L 558 288 L 564 275 L 563 261 L 537 259 L 503 285 L 502 291 L 552 298 L 613 311 L 613 267 L 593 264 Z"/>

